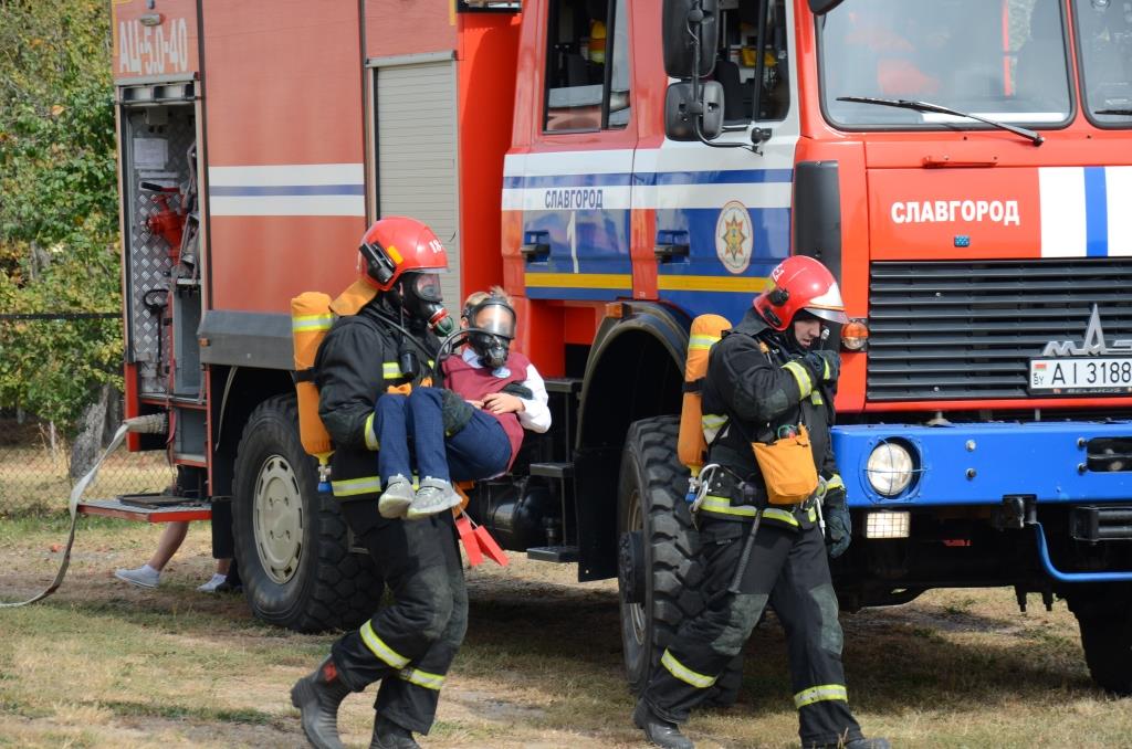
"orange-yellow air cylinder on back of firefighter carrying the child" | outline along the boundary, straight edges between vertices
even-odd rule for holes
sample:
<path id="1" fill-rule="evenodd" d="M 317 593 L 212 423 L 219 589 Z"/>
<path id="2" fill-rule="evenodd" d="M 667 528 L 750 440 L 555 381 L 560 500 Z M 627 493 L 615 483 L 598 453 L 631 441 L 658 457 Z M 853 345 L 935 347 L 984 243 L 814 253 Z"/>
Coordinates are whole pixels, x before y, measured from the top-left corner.
<path id="1" fill-rule="evenodd" d="M 295 390 L 299 396 L 299 436 L 302 449 L 325 466 L 331 453 L 331 436 L 318 416 L 318 388 L 309 374 L 315 365 L 318 346 L 334 324 L 331 298 L 308 291 L 291 300 L 291 336 L 294 341 L 294 371 L 299 373 Z"/>

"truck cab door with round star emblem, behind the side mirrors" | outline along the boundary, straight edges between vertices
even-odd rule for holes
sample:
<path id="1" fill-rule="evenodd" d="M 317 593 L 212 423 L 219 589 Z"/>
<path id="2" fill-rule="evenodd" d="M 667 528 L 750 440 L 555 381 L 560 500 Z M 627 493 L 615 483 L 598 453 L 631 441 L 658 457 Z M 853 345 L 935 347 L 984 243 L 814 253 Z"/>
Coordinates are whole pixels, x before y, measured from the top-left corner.
<path id="1" fill-rule="evenodd" d="M 729 5 L 729 3 L 723 3 Z M 754 112 L 757 8 L 765 8 L 764 76 Z M 720 11 L 714 78 L 724 91 L 718 144 L 765 139 L 757 154 L 666 139 L 636 156 L 634 205 L 655 210 L 660 299 L 691 315 L 738 322 L 766 276 L 790 252 L 790 199 L 798 143 L 794 7 L 786 0 Z"/>

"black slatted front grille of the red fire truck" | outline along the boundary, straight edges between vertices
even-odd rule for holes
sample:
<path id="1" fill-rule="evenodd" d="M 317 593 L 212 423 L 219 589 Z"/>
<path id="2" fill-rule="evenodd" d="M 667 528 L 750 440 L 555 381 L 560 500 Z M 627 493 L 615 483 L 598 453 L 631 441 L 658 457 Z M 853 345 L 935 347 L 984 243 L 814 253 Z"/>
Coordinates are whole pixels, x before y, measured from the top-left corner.
<path id="1" fill-rule="evenodd" d="M 1094 304 L 1107 345 L 1132 338 L 1132 258 L 873 262 L 868 399 L 1027 398 L 1029 360 L 1081 345 Z"/>

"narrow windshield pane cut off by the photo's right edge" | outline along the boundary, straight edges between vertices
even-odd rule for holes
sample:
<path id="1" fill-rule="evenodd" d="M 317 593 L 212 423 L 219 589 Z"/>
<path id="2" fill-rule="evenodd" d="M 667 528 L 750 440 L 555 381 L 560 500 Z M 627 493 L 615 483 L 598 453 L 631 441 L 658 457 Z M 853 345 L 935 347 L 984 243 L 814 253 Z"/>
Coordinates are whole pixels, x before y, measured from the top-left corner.
<path id="1" fill-rule="evenodd" d="M 1132 1 L 1079 0 L 1073 8 L 1089 114 L 1100 126 L 1129 127 L 1132 124 Z"/>

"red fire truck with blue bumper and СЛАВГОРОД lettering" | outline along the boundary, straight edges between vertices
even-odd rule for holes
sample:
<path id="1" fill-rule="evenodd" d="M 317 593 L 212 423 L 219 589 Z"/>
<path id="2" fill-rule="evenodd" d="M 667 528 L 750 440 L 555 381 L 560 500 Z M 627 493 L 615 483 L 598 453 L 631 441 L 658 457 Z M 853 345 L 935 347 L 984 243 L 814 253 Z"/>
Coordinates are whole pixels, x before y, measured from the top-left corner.
<path id="1" fill-rule="evenodd" d="M 258 617 L 351 626 L 380 594 L 299 442 L 289 302 L 412 215 L 449 249 L 445 298 L 501 283 L 550 377 L 554 428 L 470 511 L 619 577 L 633 686 L 702 605 L 689 322 L 737 321 L 792 252 L 852 318 L 843 604 L 1060 596 L 1096 680 L 1132 690 L 1132 3 L 112 8 L 128 415 L 169 415 L 131 447 L 230 506 Z"/>

